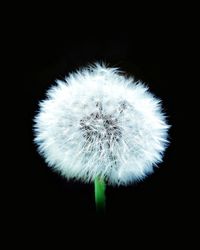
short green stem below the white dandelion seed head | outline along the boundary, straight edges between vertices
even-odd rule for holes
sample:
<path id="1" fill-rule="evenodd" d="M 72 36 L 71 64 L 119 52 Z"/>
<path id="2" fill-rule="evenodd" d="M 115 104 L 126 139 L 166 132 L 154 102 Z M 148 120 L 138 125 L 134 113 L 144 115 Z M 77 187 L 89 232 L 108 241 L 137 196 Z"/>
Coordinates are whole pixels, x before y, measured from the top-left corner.
<path id="1" fill-rule="evenodd" d="M 106 190 L 106 184 L 104 180 L 99 179 L 98 177 L 95 178 L 94 181 L 95 203 L 96 203 L 96 210 L 97 212 L 100 213 L 105 212 L 105 203 L 106 203 L 105 190 Z"/>

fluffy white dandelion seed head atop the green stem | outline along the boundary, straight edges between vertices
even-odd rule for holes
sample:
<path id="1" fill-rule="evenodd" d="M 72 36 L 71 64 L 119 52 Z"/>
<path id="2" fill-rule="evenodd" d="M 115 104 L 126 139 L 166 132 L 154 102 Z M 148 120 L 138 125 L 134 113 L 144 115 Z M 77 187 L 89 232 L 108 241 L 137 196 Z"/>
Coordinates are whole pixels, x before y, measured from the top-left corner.
<path id="1" fill-rule="evenodd" d="M 96 64 L 57 81 L 40 103 L 35 142 L 67 178 L 126 185 L 162 161 L 169 126 L 141 82 Z"/>

